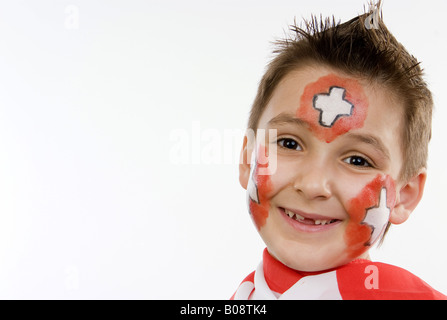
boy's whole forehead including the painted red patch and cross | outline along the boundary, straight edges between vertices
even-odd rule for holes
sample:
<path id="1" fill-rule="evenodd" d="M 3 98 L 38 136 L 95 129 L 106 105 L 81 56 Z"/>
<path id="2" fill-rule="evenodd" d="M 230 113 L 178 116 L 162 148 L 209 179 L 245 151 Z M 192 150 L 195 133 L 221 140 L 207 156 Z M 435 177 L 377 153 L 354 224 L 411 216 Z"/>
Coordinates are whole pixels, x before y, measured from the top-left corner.
<path id="1" fill-rule="evenodd" d="M 309 67 L 287 74 L 275 88 L 258 127 L 279 114 L 307 122 L 326 142 L 361 129 L 379 135 L 387 131 L 394 140 L 402 136 L 403 105 L 389 90 L 329 68 Z"/>

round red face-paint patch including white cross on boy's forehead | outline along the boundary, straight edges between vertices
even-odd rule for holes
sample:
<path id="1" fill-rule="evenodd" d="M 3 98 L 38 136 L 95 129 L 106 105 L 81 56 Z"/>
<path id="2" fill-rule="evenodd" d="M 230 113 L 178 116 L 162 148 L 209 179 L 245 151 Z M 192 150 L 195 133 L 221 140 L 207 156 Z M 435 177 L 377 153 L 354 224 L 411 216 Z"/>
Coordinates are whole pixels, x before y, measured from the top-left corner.
<path id="1" fill-rule="evenodd" d="M 367 112 L 368 98 L 360 83 L 330 74 L 304 88 L 296 116 L 309 123 L 318 139 L 329 143 L 363 127 Z"/>

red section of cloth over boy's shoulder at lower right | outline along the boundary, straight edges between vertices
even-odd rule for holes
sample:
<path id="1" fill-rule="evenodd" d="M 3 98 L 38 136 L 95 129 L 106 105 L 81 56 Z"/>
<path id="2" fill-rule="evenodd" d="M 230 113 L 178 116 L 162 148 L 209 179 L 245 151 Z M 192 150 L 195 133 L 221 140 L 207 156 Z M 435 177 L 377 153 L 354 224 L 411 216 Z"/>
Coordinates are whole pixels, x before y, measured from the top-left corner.
<path id="1" fill-rule="evenodd" d="M 337 269 L 337 282 L 343 299 L 447 299 L 411 272 L 381 262 L 354 260 Z"/>

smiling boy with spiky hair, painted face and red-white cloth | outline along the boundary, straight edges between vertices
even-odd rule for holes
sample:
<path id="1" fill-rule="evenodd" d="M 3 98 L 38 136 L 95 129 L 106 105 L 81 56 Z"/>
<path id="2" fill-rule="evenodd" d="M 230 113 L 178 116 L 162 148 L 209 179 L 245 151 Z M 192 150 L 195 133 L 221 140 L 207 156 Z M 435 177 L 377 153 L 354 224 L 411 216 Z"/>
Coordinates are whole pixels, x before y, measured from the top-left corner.
<path id="1" fill-rule="evenodd" d="M 232 299 L 447 298 L 369 259 L 422 197 L 433 105 L 419 63 L 372 8 L 340 25 L 313 18 L 278 43 L 239 168 L 267 248 Z"/>

